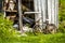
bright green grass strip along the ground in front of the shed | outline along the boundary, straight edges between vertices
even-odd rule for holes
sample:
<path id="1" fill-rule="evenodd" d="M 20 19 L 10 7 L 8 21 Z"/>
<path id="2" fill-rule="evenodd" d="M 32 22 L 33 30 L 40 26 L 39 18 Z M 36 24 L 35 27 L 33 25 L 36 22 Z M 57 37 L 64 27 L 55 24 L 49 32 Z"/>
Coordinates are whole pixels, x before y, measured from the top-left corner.
<path id="1" fill-rule="evenodd" d="M 65 33 L 5 38 L 0 43 L 65 43 Z"/>

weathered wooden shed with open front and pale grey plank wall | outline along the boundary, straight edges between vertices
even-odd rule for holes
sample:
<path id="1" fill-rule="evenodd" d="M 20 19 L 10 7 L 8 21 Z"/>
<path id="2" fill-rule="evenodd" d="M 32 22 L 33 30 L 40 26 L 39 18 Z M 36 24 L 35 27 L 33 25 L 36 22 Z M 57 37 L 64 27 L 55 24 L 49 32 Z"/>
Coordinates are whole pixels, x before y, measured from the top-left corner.
<path id="1" fill-rule="evenodd" d="M 25 14 L 29 15 L 29 17 L 32 16 L 35 22 L 39 20 L 38 24 L 40 25 L 40 27 L 42 26 L 41 28 L 44 27 L 46 22 L 48 22 L 48 24 L 54 24 L 56 27 L 58 27 L 58 0 L 20 1 L 11 0 L 11 3 L 13 4 L 13 10 L 10 9 L 11 4 L 5 4 L 5 2 L 3 1 L 4 17 L 6 17 L 6 14 L 9 15 L 9 13 L 14 13 L 14 15 L 18 14 L 18 17 L 21 18 L 22 13 L 22 15 Z"/>

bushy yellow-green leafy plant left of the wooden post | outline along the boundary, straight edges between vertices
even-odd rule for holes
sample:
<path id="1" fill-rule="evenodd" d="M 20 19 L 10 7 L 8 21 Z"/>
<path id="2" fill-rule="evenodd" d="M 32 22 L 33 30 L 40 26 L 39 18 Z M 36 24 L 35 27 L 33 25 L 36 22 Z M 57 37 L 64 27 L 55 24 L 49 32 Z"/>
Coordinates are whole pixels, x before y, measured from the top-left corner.
<path id="1" fill-rule="evenodd" d="M 3 15 L 0 14 L 0 38 L 9 39 L 16 34 L 13 26 L 13 22 L 3 18 Z"/>

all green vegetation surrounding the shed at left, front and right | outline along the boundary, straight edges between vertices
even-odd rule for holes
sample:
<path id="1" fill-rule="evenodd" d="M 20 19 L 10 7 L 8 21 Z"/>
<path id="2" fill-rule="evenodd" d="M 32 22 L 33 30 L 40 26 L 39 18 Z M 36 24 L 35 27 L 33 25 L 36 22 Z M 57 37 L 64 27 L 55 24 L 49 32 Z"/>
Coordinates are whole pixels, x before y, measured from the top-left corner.
<path id="1" fill-rule="evenodd" d="M 0 43 L 65 43 L 65 0 L 60 2 L 60 33 L 37 35 L 27 33 L 27 37 L 20 37 L 21 34 L 12 27 L 13 23 L 4 19 L 0 13 Z"/>

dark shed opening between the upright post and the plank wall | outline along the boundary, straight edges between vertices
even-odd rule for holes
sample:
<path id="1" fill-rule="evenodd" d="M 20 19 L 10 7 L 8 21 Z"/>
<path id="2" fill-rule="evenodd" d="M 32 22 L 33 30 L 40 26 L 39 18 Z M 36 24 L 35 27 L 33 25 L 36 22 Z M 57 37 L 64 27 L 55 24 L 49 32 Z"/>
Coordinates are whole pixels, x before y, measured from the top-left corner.
<path id="1" fill-rule="evenodd" d="M 25 12 L 35 12 L 34 10 L 34 0 L 22 0 L 22 11 L 23 11 L 23 23 L 24 25 L 29 24 L 30 27 L 34 26 L 35 24 L 35 14 L 34 13 L 28 13 L 25 14 Z"/>

